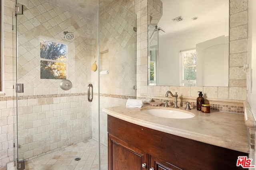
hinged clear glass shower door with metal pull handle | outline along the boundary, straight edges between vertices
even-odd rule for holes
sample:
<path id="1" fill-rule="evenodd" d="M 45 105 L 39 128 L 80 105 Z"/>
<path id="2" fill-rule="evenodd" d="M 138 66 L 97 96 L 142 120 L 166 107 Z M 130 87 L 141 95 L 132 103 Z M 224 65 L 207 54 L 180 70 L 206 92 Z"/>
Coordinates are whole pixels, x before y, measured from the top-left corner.
<path id="1" fill-rule="evenodd" d="M 87 86 L 97 94 L 98 4 L 16 3 L 24 9 L 16 15 L 18 160 L 26 169 L 97 168 L 99 98 L 88 102 Z"/>

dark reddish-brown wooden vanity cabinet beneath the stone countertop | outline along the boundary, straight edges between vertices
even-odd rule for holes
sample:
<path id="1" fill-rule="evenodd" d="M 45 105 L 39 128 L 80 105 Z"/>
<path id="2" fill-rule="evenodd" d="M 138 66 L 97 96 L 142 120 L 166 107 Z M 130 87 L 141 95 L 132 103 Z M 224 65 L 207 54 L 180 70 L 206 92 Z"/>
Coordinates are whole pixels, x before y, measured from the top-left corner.
<path id="1" fill-rule="evenodd" d="M 109 170 L 244 170 L 248 153 L 178 137 L 108 115 Z M 146 164 L 142 168 L 142 164 Z M 150 169 L 154 168 L 154 169 Z"/>

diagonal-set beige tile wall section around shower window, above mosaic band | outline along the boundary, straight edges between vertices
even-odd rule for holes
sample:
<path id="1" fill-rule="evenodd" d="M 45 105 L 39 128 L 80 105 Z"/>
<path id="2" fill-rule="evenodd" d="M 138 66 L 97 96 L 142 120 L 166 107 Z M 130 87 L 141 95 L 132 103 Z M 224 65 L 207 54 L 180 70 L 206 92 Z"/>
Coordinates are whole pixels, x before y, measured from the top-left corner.
<path id="1" fill-rule="evenodd" d="M 24 14 L 18 15 L 18 82 L 24 83 L 24 96 L 86 92 L 87 56 L 90 34 L 86 16 L 67 11 L 45 0 L 24 4 Z M 33 4 L 34 3 L 34 4 Z M 64 31 L 73 32 L 68 41 Z M 40 79 L 40 39 L 67 45 L 67 79 L 72 88 L 64 91 L 60 80 Z"/>

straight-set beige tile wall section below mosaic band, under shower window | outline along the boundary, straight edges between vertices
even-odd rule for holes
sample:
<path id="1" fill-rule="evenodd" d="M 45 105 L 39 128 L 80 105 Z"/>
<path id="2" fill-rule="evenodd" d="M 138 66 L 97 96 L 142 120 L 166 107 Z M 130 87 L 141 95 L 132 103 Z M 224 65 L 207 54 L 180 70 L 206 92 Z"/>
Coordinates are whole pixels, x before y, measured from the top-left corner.
<path id="1" fill-rule="evenodd" d="M 18 156 L 32 159 L 92 136 L 86 96 L 19 100 Z"/>

